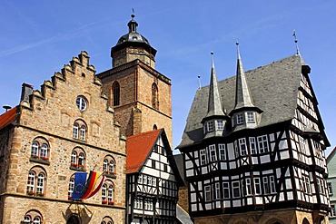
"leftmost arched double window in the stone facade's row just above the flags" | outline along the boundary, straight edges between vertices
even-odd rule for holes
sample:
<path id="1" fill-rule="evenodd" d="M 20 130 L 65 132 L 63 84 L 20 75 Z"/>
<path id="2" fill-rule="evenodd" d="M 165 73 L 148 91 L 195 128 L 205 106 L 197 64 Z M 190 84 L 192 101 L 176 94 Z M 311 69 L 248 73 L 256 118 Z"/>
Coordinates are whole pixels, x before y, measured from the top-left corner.
<path id="1" fill-rule="evenodd" d="M 49 161 L 49 143 L 42 137 L 37 137 L 32 143 L 31 158 L 35 161 Z"/>

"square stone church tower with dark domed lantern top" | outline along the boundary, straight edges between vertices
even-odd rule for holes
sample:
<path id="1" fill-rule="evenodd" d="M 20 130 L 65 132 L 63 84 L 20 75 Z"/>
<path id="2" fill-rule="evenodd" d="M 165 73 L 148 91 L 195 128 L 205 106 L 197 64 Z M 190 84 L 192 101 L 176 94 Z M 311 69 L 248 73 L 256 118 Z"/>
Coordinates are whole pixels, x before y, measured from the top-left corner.
<path id="1" fill-rule="evenodd" d="M 131 17 L 111 49 L 113 68 L 97 76 L 126 136 L 164 128 L 172 144 L 171 80 L 155 70 L 156 50 Z"/>

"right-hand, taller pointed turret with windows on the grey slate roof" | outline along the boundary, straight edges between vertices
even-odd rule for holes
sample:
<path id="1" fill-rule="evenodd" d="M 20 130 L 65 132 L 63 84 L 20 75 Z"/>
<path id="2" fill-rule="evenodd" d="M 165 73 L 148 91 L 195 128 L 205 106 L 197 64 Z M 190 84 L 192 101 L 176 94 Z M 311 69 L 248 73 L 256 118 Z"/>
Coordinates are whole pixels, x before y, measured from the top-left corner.
<path id="1" fill-rule="evenodd" d="M 232 116 L 233 126 L 242 125 L 243 127 L 253 127 L 257 124 L 255 112 L 261 113 L 262 110 L 256 107 L 252 100 L 252 94 L 246 81 L 245 72 L 242 67 L 242 58 L 237 44 L 237 72 L 236 72 L 236 97 L 235 106 L 230 116 Z"/>

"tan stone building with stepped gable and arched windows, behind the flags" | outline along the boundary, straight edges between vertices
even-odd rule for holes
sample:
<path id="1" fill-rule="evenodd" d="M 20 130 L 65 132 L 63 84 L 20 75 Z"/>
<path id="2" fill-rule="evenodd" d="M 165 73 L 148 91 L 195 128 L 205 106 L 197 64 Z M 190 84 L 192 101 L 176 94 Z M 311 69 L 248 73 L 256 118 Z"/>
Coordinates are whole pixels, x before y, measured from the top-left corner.
<path id="1" fill-rule="evenodd" d="M 1 116 L 1 223 L 124 222 L 126 140 L 94 74 L 82 52 L 41 91 L 25 95 L 24 85 L 28 100 Z M 74 172 L 103 171 L 107 158 L 114 170 L 104 186 L 114 203 L 103 192 L 68 200 Z"/>

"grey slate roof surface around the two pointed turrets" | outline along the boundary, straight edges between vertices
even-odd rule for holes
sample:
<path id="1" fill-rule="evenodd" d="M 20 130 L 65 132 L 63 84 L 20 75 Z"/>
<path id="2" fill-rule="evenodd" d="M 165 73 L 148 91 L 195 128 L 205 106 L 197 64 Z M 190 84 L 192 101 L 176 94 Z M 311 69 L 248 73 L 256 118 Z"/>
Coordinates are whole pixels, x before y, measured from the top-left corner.
<path id="1" fill-rule="evenodd" d="M 301 55 L 295 54 L 277 62 L 269 63 L 245 72 L 253 96 L 253 104 L 260 108 L 262 119 L 258 127 L 290 121 L 294 118 L 296 100 L 301 80 Z M 222 105 L 227 112 L 235 106 L 235 76 L 218 83 Z M 203 117 L 207 114 L 209 86 L 197 90 L 183 131 L 183 138 L 177 148 L 193 145 L 203 139 Z"/>

